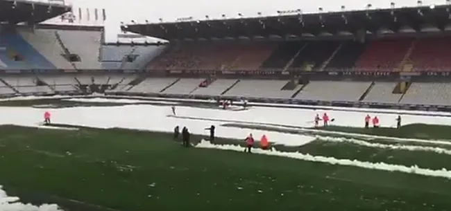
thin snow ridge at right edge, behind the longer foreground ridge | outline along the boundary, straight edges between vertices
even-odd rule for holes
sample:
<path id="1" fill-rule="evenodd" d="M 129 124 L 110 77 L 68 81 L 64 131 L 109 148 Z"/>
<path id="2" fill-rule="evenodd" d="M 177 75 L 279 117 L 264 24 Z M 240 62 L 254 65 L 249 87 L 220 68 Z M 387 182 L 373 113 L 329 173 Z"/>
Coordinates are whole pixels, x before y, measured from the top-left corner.
<path id="1" fill-rule="evenodd" d="M 444 149 L 441 147 L 423 147 L 423 146 L 416 146 L 416 145 L 386 145 L 381 143 L 369 143 L 364 140 L 357 140 L 354 138 L 334 138 L 329 136 L 316 136 L 317 140 L 323 140 L 327 142 L 334 142 L 334 143 L 352 143 L 355 145 L 361 145 L 364 147 L 374 147 L 374 148 L 381 148 L 381 149 L 401 149 L 401 150 L 409 150 L 409 151 L 426 151 L 426 152 L 436 152 L 439 154 L 450 154 L 450 149 Z"/>

